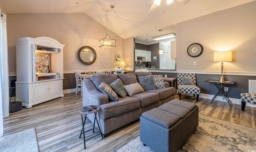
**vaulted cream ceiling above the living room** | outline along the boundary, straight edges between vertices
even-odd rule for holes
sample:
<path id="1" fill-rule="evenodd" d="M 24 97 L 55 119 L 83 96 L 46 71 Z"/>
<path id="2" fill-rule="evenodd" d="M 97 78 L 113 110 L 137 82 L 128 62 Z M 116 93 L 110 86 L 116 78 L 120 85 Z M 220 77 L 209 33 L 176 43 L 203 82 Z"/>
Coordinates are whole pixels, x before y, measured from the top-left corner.
<path id="1" fill-rule="evenodd" d="M 176 0 L 165 6 L 162 0 L 154 12 L 148 12 L 153 0 L 0 0 L 4 13 L 74 13 L 84 12 L 122 38 L 136 37 L 136 41 L 155 42 L 152 37 L 176 33 L 175 24 L 252 2 L 255 0 L 191 0 L 182 4 Z M 111 38 L 111 35 L 109 35 Z M 146 40 L 148 39 L 148 40 Z"/>

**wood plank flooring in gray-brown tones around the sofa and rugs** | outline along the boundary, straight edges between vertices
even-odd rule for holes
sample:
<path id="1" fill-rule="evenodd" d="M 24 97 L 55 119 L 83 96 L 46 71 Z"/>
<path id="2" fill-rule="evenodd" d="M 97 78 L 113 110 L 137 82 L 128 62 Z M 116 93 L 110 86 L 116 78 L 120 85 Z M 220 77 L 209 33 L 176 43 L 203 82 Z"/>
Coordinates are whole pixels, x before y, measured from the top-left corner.
<path id="1" fill-rule="evenodd" d="M 204 98 L 199 98 L 199 102 L 196 102 L 196 97 L 183 94 L 182 100 L 196 103 L 200 114 L 256 128 L 256 108 L 246 106 L 245 111 L 242 112 L 241 106 L 237 104 L 233 104 L 233 107 L 220 101 L 210 104 L 211 100 Z M 75 95 L 74 92 L 29 109 L 23 107 L 21 111 L 5 118 L 4 136 L 36 128 L 40 152 L 113 152 L 140 134 L 140 122 L 137 120 L 115 130 L 104 140 L 100 135 L 87 140 L 84 150 L 83 139 L 78 138 L 82 128 L 80 108 L 82 108 L 82 97 L 79 93 Z M 92 126 L 90 122 L 85 127 L 92 128 Z M 91 131 L 86 132 L 86 138 L 91 135 Z"/>

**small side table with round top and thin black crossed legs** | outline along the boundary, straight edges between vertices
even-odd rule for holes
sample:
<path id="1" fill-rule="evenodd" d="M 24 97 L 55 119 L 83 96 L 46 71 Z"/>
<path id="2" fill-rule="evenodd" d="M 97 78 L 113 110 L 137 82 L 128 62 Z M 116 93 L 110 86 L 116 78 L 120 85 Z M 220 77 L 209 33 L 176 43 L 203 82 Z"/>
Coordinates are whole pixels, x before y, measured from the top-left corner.
<path id="1" fill-rule="evenodd" d="M 95 106 L 95 107 L 96 107 L 95 109 L 90 110 L 90 111 L 89 111 L 89 110 L 86 110 L 86 109 L 84 109 L 84 108 L 81 108 L 81 109 L 79 110 L 79 112 L 80 112 L 80 114 L 81 114 L 81 118 L 82 118 L 82 130 L 81 130 L 81 133 L 80 133 L 79 138 L 81 138 L 81 135 L 82 135 L 82 133 L 83 133 L 83 137 L 84 137 L 84 149 L 86 148 L 86 146 L 85 146 L 85 141 L 86 141 L 86 140 L 85 140 L 85 135 L 84 135 L 84 133 L 85 133 L 85 132 L 88 132 L 88 131 L 90 131 L 90 130 L 92 130 L 92 132 L 94 133 L 95 120 L 96 120 L 96 122 L 97 122 L 97 124 L 98 124 L 98 128 L 99 128 L 99 130 L 100 130 L 100 132 L 99 132 L 98 134 L 100 134 L 101 137 L 102 137 L 102 139 L 103 139 L 103 134 L 102 134 L 102 132 L 101 132 L 100 125 L 99 125 L 99 122 L 98 122 L 98 119 L 97 119 L 97 116 L 96 116 L 97 112 L 100 110 L 100 106 Z M 94 113 L 93 129 L 84 131 L 84 125 L 85 125 L 85 121 L 86 121 L 86 118 L 87 118 L 87 114 L 92 114 L 92 113 Z M 83 118 L 83 115 L 84 115 L 84 118 Z M 93 138 L 93 137 L 97 136 L 98 134 L 95 134 L 94 136 L 92 136 L 92 137 L 90 137 L 90 138 Z M 88 139 L 90 139 L 90 138 L 88 138 Z M 88 140 L 88 139 L 87 139 L 87 140 Z"/>

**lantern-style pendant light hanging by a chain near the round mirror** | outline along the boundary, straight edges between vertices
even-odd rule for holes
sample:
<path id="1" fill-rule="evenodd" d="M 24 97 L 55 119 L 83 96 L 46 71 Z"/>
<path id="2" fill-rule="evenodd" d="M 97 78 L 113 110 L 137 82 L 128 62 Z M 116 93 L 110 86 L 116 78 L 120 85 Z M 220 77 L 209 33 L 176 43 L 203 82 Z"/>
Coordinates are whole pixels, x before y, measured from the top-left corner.
<path id="1" fill-rule="evenodd" d="M 108 12 L 110 12 L 112 9 L 114 8 L 113 5 L 110 6 L 110 8 L 108 8 L 106 10 L 106 20 L 107 20 L 107 33 L 106 33 L 106 37 L 105 38 L 102 38 L 101 40 L 99 40 L 99 47 L 100 48 L 113 48 L 116 46 L 116 40 L 114 39 L 110 39 L 108 38 Z M 110 10 L 109 10 L 110 9 Z"/>

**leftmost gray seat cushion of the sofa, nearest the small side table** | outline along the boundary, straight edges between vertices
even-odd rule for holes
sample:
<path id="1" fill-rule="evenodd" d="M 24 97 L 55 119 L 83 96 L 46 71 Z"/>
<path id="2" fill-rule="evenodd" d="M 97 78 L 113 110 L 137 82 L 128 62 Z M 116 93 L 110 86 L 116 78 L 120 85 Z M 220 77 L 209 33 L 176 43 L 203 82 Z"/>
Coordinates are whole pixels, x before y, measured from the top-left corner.
<path id="1" fill-rule="evenodd" d="M 100 105 L 100 117 L 108 119 L 138 108 L 140 108 L 140 99 L 126 96 L 119 98 L 118 102 L 110 101 L 108 104 Z"/>

